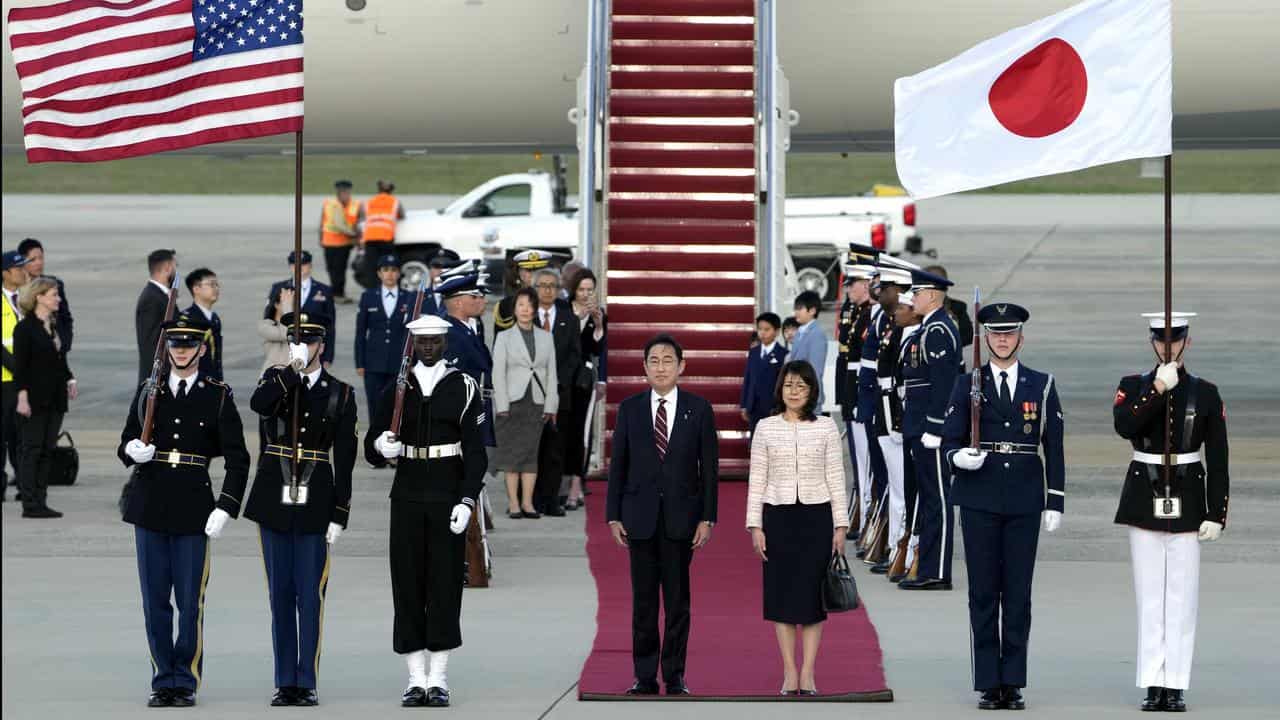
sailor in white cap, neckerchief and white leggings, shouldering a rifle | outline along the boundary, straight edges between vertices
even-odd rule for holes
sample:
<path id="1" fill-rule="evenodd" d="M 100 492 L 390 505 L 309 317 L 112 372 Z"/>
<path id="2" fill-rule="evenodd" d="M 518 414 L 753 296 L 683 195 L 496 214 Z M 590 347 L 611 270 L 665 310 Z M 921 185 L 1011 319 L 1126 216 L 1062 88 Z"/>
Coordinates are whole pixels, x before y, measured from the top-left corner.
<path id="1" fill-rule="evenodd" d="M 422 315 L 408 329 L 417 363 L 404 378 L 399 432 L 392 429 L 398 387 L 393 383 L 365 436 L 365 456 L 374 465 L 396 461 L 392 644 L 408 664 L 401 703 L 444 707 L 449 651 L 462 644 L 463 533 L 489 462 L 481 436 L 485 416 L 480 386 L 444 363 L 449 322 Z"/>

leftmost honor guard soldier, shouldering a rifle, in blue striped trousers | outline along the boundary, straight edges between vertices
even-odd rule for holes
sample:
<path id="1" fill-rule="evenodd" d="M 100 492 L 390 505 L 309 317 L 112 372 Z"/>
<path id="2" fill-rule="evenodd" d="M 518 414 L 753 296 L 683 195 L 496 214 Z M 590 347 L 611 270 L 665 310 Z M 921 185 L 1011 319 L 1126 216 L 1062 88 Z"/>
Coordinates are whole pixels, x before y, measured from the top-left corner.
<path id="1" fill-rule="evenodd" d="M 169 373 L 155 388 L 152 442 L 143 443 L 148 402 L 143 383 L 129 406 L 118 455 L 133 474 L 120 498 L 134 528 L 142 614 L 151 648 L 150 707 L 196 705 L 204 669 L 209 539 L 239 514 L 248 480 L 248 450 L 232 388 L 200 374 L 209 324 L 180 315 L 161 325 Z M 216 498 L 209 462 L 221 456 L 225 477 Z M 173 597 L 178 639 L 173 634 Z"/>

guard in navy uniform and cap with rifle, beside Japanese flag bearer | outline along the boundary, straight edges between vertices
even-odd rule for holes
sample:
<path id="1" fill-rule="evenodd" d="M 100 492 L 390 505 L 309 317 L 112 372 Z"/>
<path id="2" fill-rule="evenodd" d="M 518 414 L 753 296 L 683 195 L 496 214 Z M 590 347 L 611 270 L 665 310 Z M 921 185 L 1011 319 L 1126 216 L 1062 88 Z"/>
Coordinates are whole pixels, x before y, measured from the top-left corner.
<path id="1" fill-rule="evenodd" d="M 978 446 L 973 447 L 973 375 L 956 378 L 942 429 L 955 468 L 951 498 L 960 507 L 969 571 L 973 688 L 982 710 L 1023 710 L 1032 571 L 1043 518 L 1062 520 L 1066 470 L 1062 406 L 1053 375 L 1018 360 L 1024 307 L 997 302 L 978 313 L 991 361 L 979 373 Z"/>

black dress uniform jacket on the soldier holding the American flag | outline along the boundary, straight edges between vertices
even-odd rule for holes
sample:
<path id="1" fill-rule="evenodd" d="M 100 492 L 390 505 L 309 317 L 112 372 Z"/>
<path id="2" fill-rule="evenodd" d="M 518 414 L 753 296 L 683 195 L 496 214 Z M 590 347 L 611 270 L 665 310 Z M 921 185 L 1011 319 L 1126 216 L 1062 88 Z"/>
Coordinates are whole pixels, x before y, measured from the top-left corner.
<path id="1" fill-rule="evenodd" d="M 293 462 L 261 452 L 244 516 L 280 533 L 324 533 L 329 523 L 343 528 L 351 515 L 351 470 L 356 465 L 355 389 L 321 370 L 315 386 L 303 389 L 302 377 L 289 366 L 266 370 L 248 405 L 261 416 L 262 437 L 271 445 L 294 447 L 293 393 L 303 392 L 298 436 L 303 450 L 328 460 L 303 460 L 301 479 L 307 483 L 306 505 L 284 505 L 280 488 L 289 482 Z"/>

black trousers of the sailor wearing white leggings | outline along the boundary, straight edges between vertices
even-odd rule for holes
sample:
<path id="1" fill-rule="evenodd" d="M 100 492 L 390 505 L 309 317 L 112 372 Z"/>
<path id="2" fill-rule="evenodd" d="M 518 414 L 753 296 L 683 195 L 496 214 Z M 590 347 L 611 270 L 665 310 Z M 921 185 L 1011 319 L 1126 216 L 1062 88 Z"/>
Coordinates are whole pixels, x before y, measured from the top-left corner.
<path id="1" fill-rule="evenodd" d="M 462 644 L 467 536 L 449 530 L 452 502 L 392 501 L 392 647 L 397 653 Z"/>

